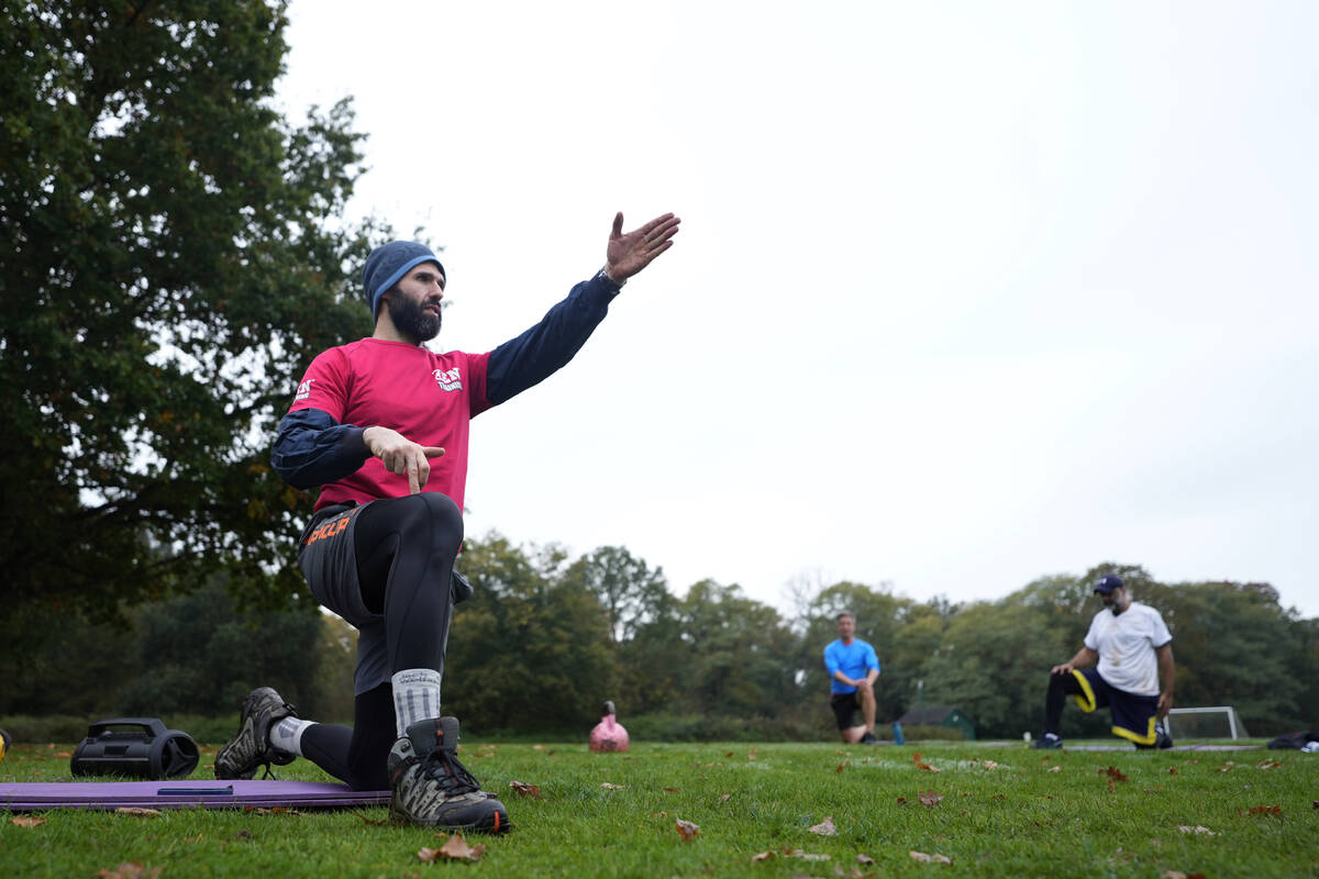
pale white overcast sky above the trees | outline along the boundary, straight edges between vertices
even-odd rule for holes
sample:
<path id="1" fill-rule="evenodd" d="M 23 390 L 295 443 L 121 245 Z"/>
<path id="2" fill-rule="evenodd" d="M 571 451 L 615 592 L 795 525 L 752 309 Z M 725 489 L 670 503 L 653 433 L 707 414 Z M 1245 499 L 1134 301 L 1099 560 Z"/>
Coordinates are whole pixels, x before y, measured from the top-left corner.
<path id="1" fill-rule="evenodd" d="M 997 598 L 1105 560 L 1319 615 L 1319 4 L 294 0 L 351 208 L 517 335 L 682 231 L 472 426 L 467 527 L 677 593 Z"/>

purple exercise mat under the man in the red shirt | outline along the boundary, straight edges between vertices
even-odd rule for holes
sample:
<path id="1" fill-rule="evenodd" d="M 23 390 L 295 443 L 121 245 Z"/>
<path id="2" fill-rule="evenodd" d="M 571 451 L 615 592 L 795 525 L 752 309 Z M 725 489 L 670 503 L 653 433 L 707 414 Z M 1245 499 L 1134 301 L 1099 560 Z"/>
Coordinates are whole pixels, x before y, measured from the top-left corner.
<path id="1" fill-rule="evenodd" d="M 326 781 L 24 781 L 0 784 L 0 810 L 38 809 L 235 809 L 297 807 L 335 809 L 384 805 L 389 791 L 353 791 Z"/>

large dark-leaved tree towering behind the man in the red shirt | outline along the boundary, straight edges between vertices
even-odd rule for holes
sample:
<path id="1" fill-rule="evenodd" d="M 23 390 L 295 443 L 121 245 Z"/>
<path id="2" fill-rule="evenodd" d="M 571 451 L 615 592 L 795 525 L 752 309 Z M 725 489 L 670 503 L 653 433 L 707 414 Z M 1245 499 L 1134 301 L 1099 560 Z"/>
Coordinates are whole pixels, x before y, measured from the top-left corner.
<path id="1" fill-rule="evenodd" d="M 15 618 L 111 618 L 218 568 L 269 605 L 309 498 L 266 459 L 365 328 L 344 101 L 270 107 L 280 0 L 4 0 L 0 560 Z M 26 613 L 26 611 L 24 611 Z"/>

